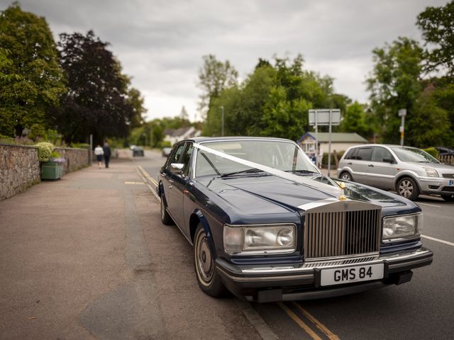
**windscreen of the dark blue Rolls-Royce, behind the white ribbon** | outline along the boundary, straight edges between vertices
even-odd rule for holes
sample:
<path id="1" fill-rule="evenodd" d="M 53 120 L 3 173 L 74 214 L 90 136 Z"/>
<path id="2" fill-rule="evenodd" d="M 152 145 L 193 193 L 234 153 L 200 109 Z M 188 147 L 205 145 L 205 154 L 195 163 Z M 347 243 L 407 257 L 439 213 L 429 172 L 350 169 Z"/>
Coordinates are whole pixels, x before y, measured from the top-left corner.
<path id="1" fill-rule="evenodd" d="M 316 166 L 292 142 L 279 140 L 224 140 L 203 143 L 205 147 L 230 154 L 282 171 L 319 174 Z M 225 175 L 239 171 L 251 174 L 250 166 L 233 162 L 209 152 L 199 150 L 196 158 L 196 176 Z"/>

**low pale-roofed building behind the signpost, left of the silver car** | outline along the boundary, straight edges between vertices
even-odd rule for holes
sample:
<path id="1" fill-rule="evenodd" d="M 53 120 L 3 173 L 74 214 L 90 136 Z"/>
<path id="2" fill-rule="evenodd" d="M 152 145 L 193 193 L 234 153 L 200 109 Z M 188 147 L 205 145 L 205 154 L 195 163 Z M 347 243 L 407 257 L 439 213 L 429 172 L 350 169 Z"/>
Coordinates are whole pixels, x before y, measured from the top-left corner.
<path id="1" fill-rule="evenodd" d="M 328 153 L 329 144 L 329 133 L 318 132 L 317 138 L 320 143 L 320 148 L 323 152 Z M 303 149 L 304 152 L 314 152 L 316 149 L 316 135 L 315 132 L 306 132 L 304 135 L 297 140 L 297 144 Z M 354 145 L 367 144 L 367 140 L 364 137 L 358 135 L 358 133 L 344 133 L 344 132 L 332 132 L 331 133 L 331 151 L 336 150 L 337 152 L 345 151 L 349 147 Z"/>

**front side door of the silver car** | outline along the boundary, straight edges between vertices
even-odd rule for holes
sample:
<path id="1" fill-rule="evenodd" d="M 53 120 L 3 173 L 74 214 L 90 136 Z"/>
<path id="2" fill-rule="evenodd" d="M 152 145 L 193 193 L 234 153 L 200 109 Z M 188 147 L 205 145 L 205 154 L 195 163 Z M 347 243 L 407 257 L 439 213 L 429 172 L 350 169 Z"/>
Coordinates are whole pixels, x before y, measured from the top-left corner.
<path id="1" fill-rule="evenodd" d="M 370 185 L 377 188 L 392 189 L 397 174 L 397 162 L 385 147 L 374 147 L 369 169 Z"/>

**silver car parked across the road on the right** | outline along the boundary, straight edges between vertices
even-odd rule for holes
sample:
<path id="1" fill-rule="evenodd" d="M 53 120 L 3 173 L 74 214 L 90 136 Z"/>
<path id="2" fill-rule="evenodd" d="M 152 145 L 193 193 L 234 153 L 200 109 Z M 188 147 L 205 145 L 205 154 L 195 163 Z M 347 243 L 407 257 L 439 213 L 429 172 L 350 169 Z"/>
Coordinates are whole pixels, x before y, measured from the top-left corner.
<path id="1" fill-rule="evenodd" d="M 416 147 L 379 144 L 350 147 L 339 162 L 338 177 L 395 190 L 410 200 L 423 193 L 454 201 L 454 166 L 442 164 Z"/>

